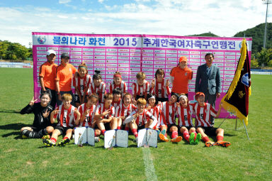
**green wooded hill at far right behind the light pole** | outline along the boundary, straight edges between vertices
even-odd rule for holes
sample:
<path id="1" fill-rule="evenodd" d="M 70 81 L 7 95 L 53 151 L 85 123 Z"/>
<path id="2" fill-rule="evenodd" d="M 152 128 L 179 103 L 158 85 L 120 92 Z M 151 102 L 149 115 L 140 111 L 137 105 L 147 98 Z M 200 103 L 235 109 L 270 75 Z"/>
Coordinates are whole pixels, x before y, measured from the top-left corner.
<path id="1" fill-rule="evenodd" d="M 236 33 L 234 37 L 252 37 L 252 53 L 261 51 L 263 47 L 263 34 L 266 23 L 261 23 L 254 28 Z M 266 48 L 272 48 L 272 23 L 267 23 L 266 29 Z"/>

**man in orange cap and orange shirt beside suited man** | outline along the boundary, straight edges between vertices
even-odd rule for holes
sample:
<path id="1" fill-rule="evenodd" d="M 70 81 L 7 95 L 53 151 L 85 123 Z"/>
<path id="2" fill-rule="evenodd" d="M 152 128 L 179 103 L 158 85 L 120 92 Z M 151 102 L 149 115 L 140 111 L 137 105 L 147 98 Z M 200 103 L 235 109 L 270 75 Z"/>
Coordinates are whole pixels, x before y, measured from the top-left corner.
<path id="1" fill-rule="evenodd" d="M 171 95 L 186 94 L 188 97 L 188 82 L 193 78 L 193 72 L 187 67 L 187 58 L 180 57 L 179 65 L 174 67 L 170 72 L 170 81 L 173 84 Z"/>

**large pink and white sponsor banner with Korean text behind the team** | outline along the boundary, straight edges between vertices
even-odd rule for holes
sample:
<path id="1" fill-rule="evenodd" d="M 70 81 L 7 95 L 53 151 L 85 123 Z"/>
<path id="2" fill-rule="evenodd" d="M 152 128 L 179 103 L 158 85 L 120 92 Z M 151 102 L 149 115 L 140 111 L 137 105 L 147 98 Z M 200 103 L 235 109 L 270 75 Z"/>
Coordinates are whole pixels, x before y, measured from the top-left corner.
<path id="1" fill-rule="evenodd" d="M 250 56 L 252 39 L 246 40 Z M 137 80 L 137 72 L 145 72 L 150 81 L 154 78 L 154 72 L 162 68 L 169 79 L 169 73 L 178 64 L 178 58 L 186 56 L 188 67 L 193 70 L 188 93 L 189 99 L 193 100 L 196 70 L 205 63 L 206 53 L 214 53 L 214 65 L 220 67 L 222 82 L 222 94 L 216 102 L 218 105 L 234 77 L 241 42 L 242 38 L 33 33 L 34 95 L 35 98 L 40 95 L 39 68 L 46 62 L 47 50 L 52 49 L 57 53 L 57 65 L 60 65 L 60 55 L 69 53 L 70 63 L 77 68 L 81 62 L 85 62 L 89 75 L 93 75 L 94 70 L 101 70 L 107 89 L 113 81 L 114 72 L 118 70 L 130 92 L 132 83 Z M 223 110 L 220 117 L 225 118 L 227 115 Z"/>

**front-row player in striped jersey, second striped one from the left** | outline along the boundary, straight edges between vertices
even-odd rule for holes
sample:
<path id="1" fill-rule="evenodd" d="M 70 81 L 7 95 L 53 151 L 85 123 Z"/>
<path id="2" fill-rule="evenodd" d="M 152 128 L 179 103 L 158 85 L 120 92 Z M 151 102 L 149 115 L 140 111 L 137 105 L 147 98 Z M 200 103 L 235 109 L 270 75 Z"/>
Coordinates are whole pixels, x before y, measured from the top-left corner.
<path id="1" fill-rule="evenodd" d="M 91 94 L 87 96 L 87 102 L 79 106 L 79 113 L 81 115 L 78 125 L 79 127 L 89 126 L 91 128 L 94 128 L 94 126 L 96 126 L 96 122 L 94 121 L 94 114 L 96 112 L 96 104 L 98 103 L 98 99 L 98 95 Z M 101 131 L 98 128 L 94 130 L 94 140 L 96 142 L 100 141 L 100 133 Z"/>

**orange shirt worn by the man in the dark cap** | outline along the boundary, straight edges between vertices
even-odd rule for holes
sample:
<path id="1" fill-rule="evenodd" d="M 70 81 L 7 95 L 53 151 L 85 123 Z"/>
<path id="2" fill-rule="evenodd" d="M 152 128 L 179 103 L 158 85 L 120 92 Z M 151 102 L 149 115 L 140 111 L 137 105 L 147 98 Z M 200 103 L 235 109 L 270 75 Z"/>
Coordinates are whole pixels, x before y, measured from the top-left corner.
<path id="1" fill-rule="evenodd" d="M 57 66 L 56 80 L 59 80 L 60 91 L 68 92 L 71 90 L 72 77 L 77 69 L 72 64 Z"/>

